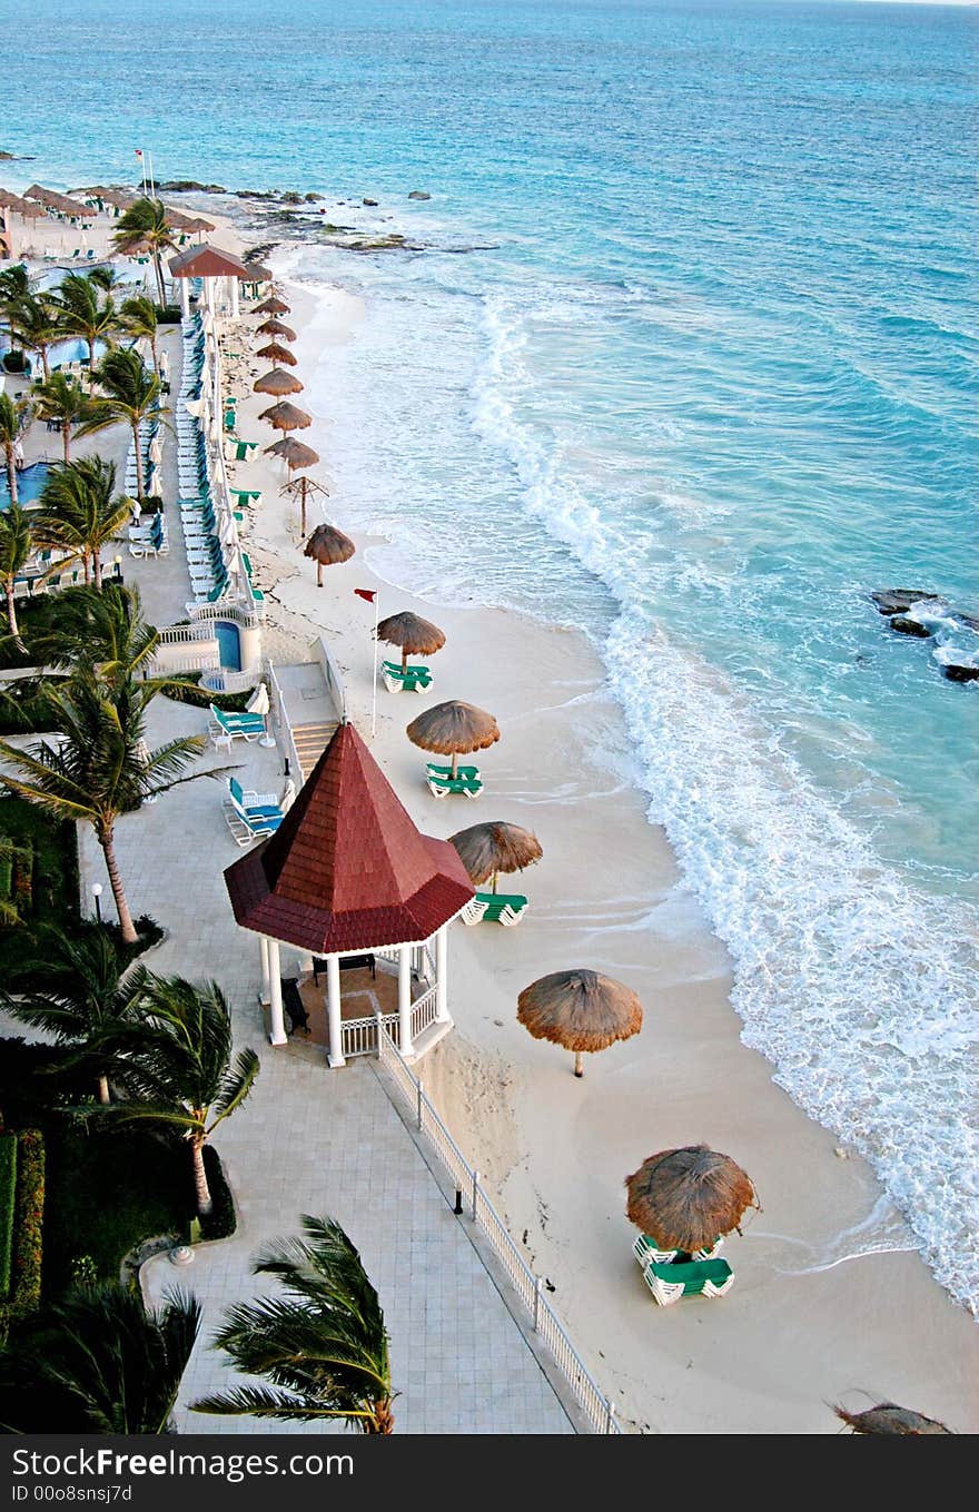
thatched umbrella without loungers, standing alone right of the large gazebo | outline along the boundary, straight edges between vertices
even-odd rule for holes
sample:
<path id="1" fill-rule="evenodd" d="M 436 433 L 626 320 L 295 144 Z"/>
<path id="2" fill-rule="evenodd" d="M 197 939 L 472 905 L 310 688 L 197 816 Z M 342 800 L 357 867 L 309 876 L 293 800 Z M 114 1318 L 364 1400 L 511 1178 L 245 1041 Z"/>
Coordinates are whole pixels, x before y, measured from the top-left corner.
<path id="1" fill-rule="evenodd" d="M 583 1054 L 639 1033 L 642 1004 L 630 987 L 597 971 L 551 971 L 520 993 L 517 1018 L 535 1039 L 574 1051 L 574 1075 L 583 1077 Z"/>

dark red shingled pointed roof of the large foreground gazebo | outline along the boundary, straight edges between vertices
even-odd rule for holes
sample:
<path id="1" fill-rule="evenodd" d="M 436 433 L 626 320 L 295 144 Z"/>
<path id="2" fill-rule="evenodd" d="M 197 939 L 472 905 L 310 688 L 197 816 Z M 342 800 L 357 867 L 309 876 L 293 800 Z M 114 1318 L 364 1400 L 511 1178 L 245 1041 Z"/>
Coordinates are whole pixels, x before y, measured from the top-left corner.
<path id="1" fill-rule="evenodd" d="M 473 897 L 455 848 L 415 829 L 352 724 L 225 885 L 242 928 L 317 956 L 418 943 Z"/>

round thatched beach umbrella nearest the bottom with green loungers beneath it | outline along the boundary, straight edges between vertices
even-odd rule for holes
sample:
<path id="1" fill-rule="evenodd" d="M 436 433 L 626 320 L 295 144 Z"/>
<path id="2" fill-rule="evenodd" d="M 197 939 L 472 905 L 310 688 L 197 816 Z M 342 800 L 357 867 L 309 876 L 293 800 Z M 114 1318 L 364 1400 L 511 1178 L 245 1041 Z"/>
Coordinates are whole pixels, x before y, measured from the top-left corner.
<path id="1" fill-rule="evenodd" d="M 706 1145 L 662 1149 L 625 1176 L 628 1219 L 657 1249 L 693 1253 L 730 1234 L 748 1208 L 760 1208 L 751 1178 L 730 1155 Z"/>

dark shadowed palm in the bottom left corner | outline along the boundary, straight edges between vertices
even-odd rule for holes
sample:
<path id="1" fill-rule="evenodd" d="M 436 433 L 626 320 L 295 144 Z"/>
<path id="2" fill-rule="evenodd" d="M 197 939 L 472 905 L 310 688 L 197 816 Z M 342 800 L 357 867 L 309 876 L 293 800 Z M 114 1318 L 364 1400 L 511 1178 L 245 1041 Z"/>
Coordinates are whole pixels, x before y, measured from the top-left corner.
<path id="1" fill-rule="evenodd" d="M 69 1293 L 0 1362 L 0 1432 L 171 1432 L 199 1328 L 201 1305 L 183 1291 L 159 1311 L 118 1281 Z"/>

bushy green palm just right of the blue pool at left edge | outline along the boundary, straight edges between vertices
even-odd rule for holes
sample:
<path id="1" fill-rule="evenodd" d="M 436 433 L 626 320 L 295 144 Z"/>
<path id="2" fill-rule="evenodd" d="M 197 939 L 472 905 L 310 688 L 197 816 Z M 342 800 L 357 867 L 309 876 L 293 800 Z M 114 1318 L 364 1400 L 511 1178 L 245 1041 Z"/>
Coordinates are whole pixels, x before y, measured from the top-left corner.
<path id="1" fill-rule="evenodd" d="M 94 564 L 95 587 L 101 588 L 103 546 L 118 535 L 131 514 L 131 499 L 115 491 L 115 463 L 80 457 L 51 467 L 33 519 L 39 546 L 57 546 L 80 556 L 85 581 Z"/>

